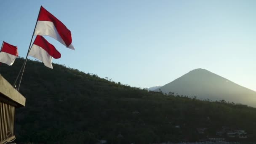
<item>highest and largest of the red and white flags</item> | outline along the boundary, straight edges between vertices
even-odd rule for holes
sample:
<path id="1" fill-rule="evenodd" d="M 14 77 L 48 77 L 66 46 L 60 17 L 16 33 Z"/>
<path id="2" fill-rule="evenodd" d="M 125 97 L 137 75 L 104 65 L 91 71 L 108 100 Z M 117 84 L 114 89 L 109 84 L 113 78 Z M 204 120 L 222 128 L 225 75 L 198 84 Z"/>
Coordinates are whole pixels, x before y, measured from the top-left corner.
<path id="1" fill-rule="evenodd" d="M 67 48 L 75 50 L 72 45 L 70 30 L 43 6 L 40 8 L 34 35 L 48 35 L 58 40 Z"/>

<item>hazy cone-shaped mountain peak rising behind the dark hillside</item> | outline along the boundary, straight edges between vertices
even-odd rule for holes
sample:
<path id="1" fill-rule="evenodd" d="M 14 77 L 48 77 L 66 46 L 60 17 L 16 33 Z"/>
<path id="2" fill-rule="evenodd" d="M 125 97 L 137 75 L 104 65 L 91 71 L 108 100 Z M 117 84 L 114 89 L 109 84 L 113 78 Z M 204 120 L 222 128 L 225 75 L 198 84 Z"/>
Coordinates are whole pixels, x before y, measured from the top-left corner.
<path id="1" fill-rule="evenodd" d="M 256 107 L 256 92 L 237 85 L 206 69 L 194 69 L 160 88 L 163 93 L 178 93 L 212 101 L 225 100 Z M 157 89 L 156 91 L 159 91 Z"/>

